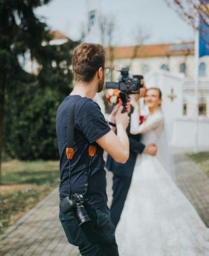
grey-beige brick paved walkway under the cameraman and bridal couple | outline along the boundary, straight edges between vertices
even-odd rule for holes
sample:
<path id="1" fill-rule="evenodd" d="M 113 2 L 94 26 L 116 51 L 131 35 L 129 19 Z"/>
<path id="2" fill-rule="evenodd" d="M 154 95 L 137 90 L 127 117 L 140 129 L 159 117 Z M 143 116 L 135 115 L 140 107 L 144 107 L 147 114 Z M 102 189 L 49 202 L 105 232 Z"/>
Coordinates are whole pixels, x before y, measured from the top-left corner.
<path id="1" fill-rule="evenodd" d="M 183 154 L 175 155 L 176 179 L 209 227 L 209 179 Z M 111 202 L 111 173 L 107 172 L 107 193 Z M 58 220 L 58 189 L 0 236 L 1 256 L 78 256 L 68 244 Z"/>

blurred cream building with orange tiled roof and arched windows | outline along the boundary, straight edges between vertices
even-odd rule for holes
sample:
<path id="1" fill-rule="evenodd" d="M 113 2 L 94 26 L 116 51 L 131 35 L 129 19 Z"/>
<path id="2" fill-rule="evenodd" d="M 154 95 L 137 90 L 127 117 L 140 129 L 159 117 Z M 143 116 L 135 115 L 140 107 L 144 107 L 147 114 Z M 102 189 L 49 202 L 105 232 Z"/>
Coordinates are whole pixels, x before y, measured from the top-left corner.
<path id="1" fill-rule="evenodd" d="M 185 76 L 182 84 L 182 115 L 194 117 L 194 42 L 143 45 L 138 47 L 136 56 L 134 52 L 134 46 L 114 47 L 113 65 L 130 67 L 132 74 L 143 74 L 145 78 L 146 74 L 156 70 L 182 73 Z M 114 72 L 113 76 L 116 79 L 118 74 Z M 174 91 L 173 96 L 178 93 Z M 199 59 L 199 115 L 209 117 L 209 56 Z"/>

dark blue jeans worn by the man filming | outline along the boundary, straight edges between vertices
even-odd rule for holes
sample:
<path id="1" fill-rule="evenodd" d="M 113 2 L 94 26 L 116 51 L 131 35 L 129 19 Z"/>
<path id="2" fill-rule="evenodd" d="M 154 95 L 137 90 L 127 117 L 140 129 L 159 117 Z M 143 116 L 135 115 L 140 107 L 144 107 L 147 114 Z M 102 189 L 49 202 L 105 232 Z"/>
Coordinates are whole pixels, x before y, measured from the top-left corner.
<path id="1" fill-rule="evenodd" d="M 87 212 L 95 230 L 97 230 L 98 234 L 101 234 L 104 237 L 106 241 L 105 248 L 109 248 L 109 256 L 118 256 L 118 246 L 114 236 L 115 228 L 111 222 L 109 209 L 107 207 L 87 209 Z M 105 253 L 99 244 L 91 243 L 89 241 L 82 228 L 79 227 L 79 223 L 72 212 L 63 214 L 60 210 L 59 220 L 65 230 L 68 242 L 75 246 L 79 246 L 79 251 L 82 256 L 107 255 L 107 252 Z"/>

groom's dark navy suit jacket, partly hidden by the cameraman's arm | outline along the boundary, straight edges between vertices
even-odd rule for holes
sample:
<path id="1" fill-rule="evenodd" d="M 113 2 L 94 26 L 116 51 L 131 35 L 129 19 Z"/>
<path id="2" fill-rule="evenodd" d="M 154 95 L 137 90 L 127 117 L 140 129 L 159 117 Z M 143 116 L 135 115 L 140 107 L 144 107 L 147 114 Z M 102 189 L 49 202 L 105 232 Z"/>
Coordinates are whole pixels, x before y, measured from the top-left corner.
<path id="1" fill-rule="evenodd" d="M 133 108 L 130 109 L 130 114 L 133 112 Z M 106 168 L 109 171 L 112 171 L 114 175 L 132 177 L 135 160 L 137 154 L 141 154 L 144 150 L 145 145 L 140 142 L 140 134 L 130 134 L 130 125 L 127 128 L 128 139 L 130 143 L 130 155 L 127 160 L 127 163 L 120 164 L 112 159 L 111 156 L 107 156 Z"/>

